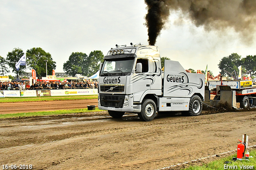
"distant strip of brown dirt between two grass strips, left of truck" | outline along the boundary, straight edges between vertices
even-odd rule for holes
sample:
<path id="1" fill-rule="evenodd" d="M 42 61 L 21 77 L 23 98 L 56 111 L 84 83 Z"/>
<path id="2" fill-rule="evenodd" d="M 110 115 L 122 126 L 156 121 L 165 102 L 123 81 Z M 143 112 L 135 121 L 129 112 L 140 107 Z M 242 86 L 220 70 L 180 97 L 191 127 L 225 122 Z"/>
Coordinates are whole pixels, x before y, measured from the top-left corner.
<path id="1" fill-rule="evenodd" d="M 84 109 L 87 108 L 87 105 L 96 105 L 98 107 L 98 99 L 0 103 L 0 114 Z"/>

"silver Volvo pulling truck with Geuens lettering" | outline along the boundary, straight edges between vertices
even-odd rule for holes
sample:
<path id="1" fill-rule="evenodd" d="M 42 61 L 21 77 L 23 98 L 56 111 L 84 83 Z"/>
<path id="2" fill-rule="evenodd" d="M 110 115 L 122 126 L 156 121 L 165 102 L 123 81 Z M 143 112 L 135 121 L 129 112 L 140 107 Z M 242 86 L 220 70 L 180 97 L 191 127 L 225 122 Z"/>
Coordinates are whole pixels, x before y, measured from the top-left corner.
<path id="1" fill-rule="evenodd" d="M 116 45 L 100 65 L 98 108 L 113 118 L 125 112 L 152 121 L 156 112 L 200 115 L 204 75 L 187 73 L 178 61 L 165 60 L 162 71 L 157 46 Z"/>

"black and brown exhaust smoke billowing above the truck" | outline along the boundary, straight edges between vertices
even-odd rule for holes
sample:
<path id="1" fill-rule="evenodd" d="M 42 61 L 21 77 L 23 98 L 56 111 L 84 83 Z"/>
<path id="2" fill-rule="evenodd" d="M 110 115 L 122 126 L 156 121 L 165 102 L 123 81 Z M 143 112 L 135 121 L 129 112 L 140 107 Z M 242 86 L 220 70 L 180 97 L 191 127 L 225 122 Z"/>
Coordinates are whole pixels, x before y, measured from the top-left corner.
<path id="1" fill-rule="evenodd" d="M 256 26 L 256 0 L 145 0 L 149 45 L 156 43 L 170 10 L 181 10 L 195 26 L 209 30 L 233 28 L 250 42 Z"/>

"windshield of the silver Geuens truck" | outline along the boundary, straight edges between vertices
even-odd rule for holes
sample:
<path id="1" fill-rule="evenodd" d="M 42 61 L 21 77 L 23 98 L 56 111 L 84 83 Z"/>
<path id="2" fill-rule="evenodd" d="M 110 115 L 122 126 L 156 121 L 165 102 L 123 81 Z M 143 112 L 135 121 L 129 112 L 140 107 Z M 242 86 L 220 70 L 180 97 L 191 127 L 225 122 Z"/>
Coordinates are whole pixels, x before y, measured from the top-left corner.
<path id="1" fill-rule="evenodd" d="M 103 63 L 100 75 L 130 75 L 133 63 L 134 57 L 106 59 Z"/>

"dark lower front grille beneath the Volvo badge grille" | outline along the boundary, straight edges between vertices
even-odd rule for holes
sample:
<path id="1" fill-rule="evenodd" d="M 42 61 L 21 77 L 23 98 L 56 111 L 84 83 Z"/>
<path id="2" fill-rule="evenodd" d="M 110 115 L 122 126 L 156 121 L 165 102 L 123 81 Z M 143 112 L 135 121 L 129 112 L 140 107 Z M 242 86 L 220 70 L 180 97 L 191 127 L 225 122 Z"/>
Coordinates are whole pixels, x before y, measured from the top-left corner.
<path id="1" fill-rule="evenodd" d="M 100 105 L 104 107 L 123 107 L 124 95 L 100 95 Z"/>

